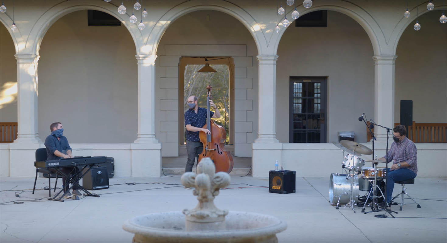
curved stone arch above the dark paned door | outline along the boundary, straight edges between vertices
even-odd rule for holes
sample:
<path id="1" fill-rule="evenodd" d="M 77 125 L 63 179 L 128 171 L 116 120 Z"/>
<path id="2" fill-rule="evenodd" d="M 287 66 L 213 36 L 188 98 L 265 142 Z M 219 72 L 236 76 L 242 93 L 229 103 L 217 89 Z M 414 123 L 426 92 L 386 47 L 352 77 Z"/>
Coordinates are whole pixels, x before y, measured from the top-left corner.
<path id="1" fill-rule="evenodd" d="M 382 32 L 380 26 L 377 22 L 372 18 L 372 16 L 366 12 L 364 9 L 358 7 L 357 5 L 351 4 L 349 2 L 337 2 L 340 5 L 318 5 L 320 2 L 316 2 L 312 8 L 303 10 L 300 12 L 300 15 L 304 15 L 309 12 L 314 12 L 318 10 L 331 10 L 335 12 L 343 13 L 347 16 L 350 16 L 354 21 L 356 21 L 367 33 L 368 37 L 371 40 L 372 49 L 374 51 L 374 55 L 382 54 L 381 46 L 385 45 L 385 37 Z M 335 3 L 334 3 L 335 4 Z M 304 8 L 304 7 L 303 7 Z M 355 9 L 355 10 L 353 10 Z M 291 10 L 293 11 L 293 10 Z M 290 12 L 291 12 L 290 11 Z M 292 22 L 293 23 L 293 22 Z M 291 24 L 292 24 L 291 23 Z M 275 53 L 278 51 L 279 41 L 283 37 L 283 34 L 287 28 L 281 28 L 278 33 L 278 37 L 274 42 L 274 51 Z"/>

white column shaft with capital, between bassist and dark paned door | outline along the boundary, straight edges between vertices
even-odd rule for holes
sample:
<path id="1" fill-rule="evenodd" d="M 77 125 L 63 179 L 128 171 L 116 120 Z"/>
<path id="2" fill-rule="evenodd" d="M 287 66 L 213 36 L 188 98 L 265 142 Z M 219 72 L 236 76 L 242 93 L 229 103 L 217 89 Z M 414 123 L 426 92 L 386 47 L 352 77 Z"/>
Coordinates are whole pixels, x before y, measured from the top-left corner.
<path id="1" fill-rule="evenodd" d="M 276 139 L 276 60 L 277 55 L 260 55 L 259 61 L 259 117 L 255 143 L 279 143 Z"/>

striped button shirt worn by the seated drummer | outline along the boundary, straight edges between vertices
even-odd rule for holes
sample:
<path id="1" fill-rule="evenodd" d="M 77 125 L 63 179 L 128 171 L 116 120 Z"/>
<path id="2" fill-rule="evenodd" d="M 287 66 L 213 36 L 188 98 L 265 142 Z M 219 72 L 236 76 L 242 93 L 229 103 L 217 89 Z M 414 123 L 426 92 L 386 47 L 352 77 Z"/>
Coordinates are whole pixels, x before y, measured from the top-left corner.
<path id="1" fill-rule="evenodd" d="M 417 151 L 416 145 L 406 136 L 402 141 L 393 142 L 390 150 L 388 150 L 388 161 L 393 161 L 393 164 L 400 162 L 407 162 L 410 167 L 405 167 L 417 174 Z M 386 159 L 387 156 L 384 156 Z"/>

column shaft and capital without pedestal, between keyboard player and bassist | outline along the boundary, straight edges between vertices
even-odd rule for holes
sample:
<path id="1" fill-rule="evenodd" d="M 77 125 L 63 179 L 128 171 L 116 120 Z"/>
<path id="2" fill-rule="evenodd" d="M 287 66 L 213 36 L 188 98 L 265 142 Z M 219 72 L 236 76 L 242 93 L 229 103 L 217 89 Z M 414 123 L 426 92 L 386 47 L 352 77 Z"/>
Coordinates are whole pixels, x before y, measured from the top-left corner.
<path id="1" fill-rule="evenodd" d="M 138 135 L 136 144 L 159 143 L 155 137 L 156 55 L 136 55 L 138 62 Z"/>

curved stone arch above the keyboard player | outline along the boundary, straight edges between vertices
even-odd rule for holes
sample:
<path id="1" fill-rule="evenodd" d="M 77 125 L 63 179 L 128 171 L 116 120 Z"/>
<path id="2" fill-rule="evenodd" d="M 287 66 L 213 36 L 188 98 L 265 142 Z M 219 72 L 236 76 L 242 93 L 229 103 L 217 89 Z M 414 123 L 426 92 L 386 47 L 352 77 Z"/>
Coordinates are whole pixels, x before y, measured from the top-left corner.
<path id="1" fill-rule="evenodd" d="M 141 32 L 139 32 L 138 27 L 136 25 L 129 25 L 127 21 L 122 20 L 122 17 L 119 16 L 116 11 L 114 11 L 116 10 L 116 8 L 118 8 L 118 6 L 115 6 L 112 3 L 107 3 L 104 1 L 97 2 L 95 4 L 97 5 L 77 4 L 75 1 L 64 1 L 55 4 L 46 12 L 44 12 L 42 16 L 38 18 L 38 21 L 36 21 L 36 23 L 34 24 L 33 28 L 31 29 L 30 35 L 25 42 L 26 49 L 31 51 L 33 54 L 38 55 L 40 44 L 42 43 L 43 37 L 45 36 L 48 29 L 50 29 L 51 25 L 53 25 L 57 20 L 59 20 L 59 18 L 71 12 L 93 9 L 108 13 L 121 21 L 121 24 L 124 25 L 131 34 L 131 37 L 135 43 L 136 54 L 138 55 L 139 43 L 141 43 L 142 42 L 141 40 L 143 39 L 143 37 L 141 36 Z M 129 16 L 128 12 L 126 12 L 126 14 L 124 15 Z M 140 33 L 138 37 L 136 36 L 136 33 Z"/>

